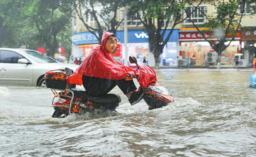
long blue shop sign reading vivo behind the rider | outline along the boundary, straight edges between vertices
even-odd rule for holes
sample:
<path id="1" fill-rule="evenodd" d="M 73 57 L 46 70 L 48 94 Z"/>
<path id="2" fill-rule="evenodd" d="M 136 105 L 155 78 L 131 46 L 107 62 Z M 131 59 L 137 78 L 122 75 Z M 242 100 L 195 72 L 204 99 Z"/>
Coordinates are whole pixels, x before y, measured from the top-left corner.
<path id="1" fill-rule="evenodd" d="M 179 41 L 179 29 L 174 29 L 171 37 L 169 38 L 168 42 L 178 42 Z M 167 38 L 168 33 L 171 29 L 167 29 L 165 35 L 163 36 L 164 39 Z M 161 31 L 161 33 L 163 30 Z M 96 33 L 96 32 L 95 32 Z M 97 34 L 97 33 L 96 33 Z M 97 34 L 98 35 L 98 34 Z M 117 38 L 119 38 L 119 42 L 124 43 L 124 31 L 117 31 L 116 34 Z M 97 44 L 97 38 L 90 32 L 81 32 L 76 33 L 72 36 L 72 42 L 75 45 L 81 44 Z M 139 30 L 129 30 L 128 31 L 128 43 L 142 43 L 148 42 L 148 33 L 147 31 Z"/>

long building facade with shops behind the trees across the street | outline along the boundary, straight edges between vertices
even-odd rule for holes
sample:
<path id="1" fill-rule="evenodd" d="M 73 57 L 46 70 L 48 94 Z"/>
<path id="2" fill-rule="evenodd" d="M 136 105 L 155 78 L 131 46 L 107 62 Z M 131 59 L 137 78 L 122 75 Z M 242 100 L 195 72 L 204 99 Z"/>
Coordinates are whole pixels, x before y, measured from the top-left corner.
<path id="1" fill-rule="evenodd" d="M 249 6 L 249 5 L 248 5 Z M 241 21 L 241 30 L 234 38 L 235 40 L 230 43 L 222 53 L 221 65 L 223 67 L 234 66 L 234 55 L 236 53 L 243 53 L 240 58 L 243 61 L 241 66 L 249 66 L 252 58 L 256 57 L 256 15 L 249 11 L 249 7 L 245 7 L 245 13 Z M 100 10 L 100 6 L 98 6 Z M 163 53 L 160 56 L 160 66 L 215 66 L 217 61 L 217 53 L 211 48 L 208 41 L 200 37 L 197 29 L 193 27 L 191 20 L 196 25 L 204 24 L 207 19 L 202 15 L 202 11 L 207 15 L 214 15 L 216 12 L 215 6 L 211 5 L 209 1 L 202 3 L 198 9 L 190 13 L 190 19 L 184 20 L 183 23 L 178 24 L 174 32 L 163 49 Z M 140 61 L 143 56 L 148 57 L 148 65 L 154 66 L 154 56 L 148 49 L 148 34 L 144 31 L 143 25 L 135 15 L 133 19 L 128 19 L 128 56 L 134 55 Z M 186 16 L 186 13 L 184 14 Z M 117 12 L 117 20 L 124 18 L 124 9 L 119 9 Z M 86 15 L 85 22 L 90 26 L 95 26 L 95 20 L 93 16 Z M 76 21 L 76 22 L 74 22 Z M 253 22 L 252 22 L 253 21 Z M 98 41 L 87 29 L 77 16 L 73 18 L 73 36 L 72 36 L 72 53 L 73 57 L 85 58 L 88 53 L 97 46 Z M 170 20 L 168 25 L 168 31 L 170 31 L 173 23 L 173 19 Z M 207 28 L 200 28 L 207 29 Z M 124 24 L 122 23 L 117 29 L 117 37 L 120 38 L 119 46 L 117 47 L 117 53 L 113 54 L 116 60 L 124 60 Z M 215 38 L 211 39 L 215 42 Z M 253 55 L 254 53 L 254 55 Z M 126 58 L 127 59 L 127 58 Z"/>

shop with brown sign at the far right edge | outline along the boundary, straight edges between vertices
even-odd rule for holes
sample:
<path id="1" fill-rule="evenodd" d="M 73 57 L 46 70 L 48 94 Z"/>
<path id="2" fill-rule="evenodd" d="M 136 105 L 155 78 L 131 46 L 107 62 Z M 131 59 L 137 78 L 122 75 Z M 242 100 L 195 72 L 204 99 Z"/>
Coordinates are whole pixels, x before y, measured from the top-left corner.
<path id="1" fill-rule="evenodd" d="M 252 66 L 256 58 L 256 27 L 243 28 L 241 31 L 241 50 L 247 65 Z"/>

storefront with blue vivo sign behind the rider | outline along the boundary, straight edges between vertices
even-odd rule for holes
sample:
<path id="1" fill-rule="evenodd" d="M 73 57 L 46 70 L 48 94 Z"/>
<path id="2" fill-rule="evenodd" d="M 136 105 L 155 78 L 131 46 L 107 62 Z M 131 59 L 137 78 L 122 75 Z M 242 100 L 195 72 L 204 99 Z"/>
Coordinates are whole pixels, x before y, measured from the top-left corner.
<path id="1" fill-rule="evenodd" d="M 167 29 L 164 39 L 167 37 L 167 33 L 170 31 L 171 29 Z M 122 63 L 124 60 L 124 31 L 117 31 L 116 35 L 120 40 L 117 43 L 116 51 L 112 55 L 115 60 Z M 160 55 L 160 65 L 177 66 L 178 40 L 178 29 L 174 29 L 171 37 L 163 49 L 163 53 Z M 98 46 L 98 40 L 92 33 L 75 33 L 72 36 L 72 60 L 75 58 L 82 58 L 83 60 L 96 46 Z M 127 51 L 127 56 L 135 56 L 139 64 L 141 64 L 140 62 L 142 62 L 144 56 L 148 58 L 148 62 L 154 60 L 154 56 L 152 54 L 150 55 L 148 48 L 148 33 L 141 29 L 128 30 Z M 72 62 L 72 60 L 70 62 Z M 154 65 L 154 63 L 148 63 L 148 65 Z"/>

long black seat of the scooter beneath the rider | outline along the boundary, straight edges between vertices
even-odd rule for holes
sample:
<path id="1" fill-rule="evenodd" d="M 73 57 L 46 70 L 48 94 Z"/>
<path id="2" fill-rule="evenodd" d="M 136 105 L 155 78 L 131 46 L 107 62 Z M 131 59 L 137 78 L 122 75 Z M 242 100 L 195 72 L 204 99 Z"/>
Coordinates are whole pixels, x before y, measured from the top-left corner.
<path id="1" fill-rule="evenodd" d="M 97 105 L 102 105 L 105 107 L 108 107 L 110 105 L 113 105 L 113 107 L 117 107 L 118 104 L 121 102 L 121 97 L 117 94 L 106 94 L 102 97 L 93 97 L 89 95 L 85 89 L 80 88 L 71 88 L 71 91 L 74 92 L 75 97 L 79 97 L 85 101 L 91 101 L 94 102 Z M 116 106 L 117 105 L 117 106 Z"/>

